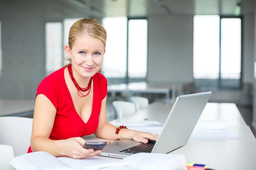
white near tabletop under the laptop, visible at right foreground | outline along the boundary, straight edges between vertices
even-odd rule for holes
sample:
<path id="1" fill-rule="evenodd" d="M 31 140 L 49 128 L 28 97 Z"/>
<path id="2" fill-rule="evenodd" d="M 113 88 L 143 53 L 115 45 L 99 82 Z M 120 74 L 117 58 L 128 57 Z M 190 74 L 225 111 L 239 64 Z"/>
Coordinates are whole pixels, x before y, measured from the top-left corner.
<path id="1" fill-rule="evenodd" d="M 168 154 L 181 154 L 186 162 L 207 164 L 215 170 L 255 170 L 256 139 L 248 126 L 228 126 L 240 139 L 189 139 L 186 145 Z M 87 141 L 107 141 L 85 136 Z M 174 139 L 175 140 L 175 139 Z M 116 159 L 105 157 L 105 159 Z M 118 159 L 117 159 L 118 160 Z"/>

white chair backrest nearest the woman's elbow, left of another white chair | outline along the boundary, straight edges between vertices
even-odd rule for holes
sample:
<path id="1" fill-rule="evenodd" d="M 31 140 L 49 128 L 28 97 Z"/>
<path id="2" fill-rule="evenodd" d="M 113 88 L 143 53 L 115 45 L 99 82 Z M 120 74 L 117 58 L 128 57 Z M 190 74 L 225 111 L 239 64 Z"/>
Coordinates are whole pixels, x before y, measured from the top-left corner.
<path id="1" fill-rule="evenodd" d="M 125 102 L 125 101 L 113 101 L 112 102 L 118 118 L 122 118 L 125 115 L 131 115 L 136 112 L 136 106 L 133 102 Z"/>

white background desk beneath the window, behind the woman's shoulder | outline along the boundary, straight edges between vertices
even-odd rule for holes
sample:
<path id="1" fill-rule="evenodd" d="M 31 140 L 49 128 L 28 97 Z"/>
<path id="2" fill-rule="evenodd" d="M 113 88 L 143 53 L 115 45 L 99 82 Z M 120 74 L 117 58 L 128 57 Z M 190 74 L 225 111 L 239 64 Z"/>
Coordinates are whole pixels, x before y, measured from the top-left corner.
<path id="1" fill-rule="evenodd" d="M 170 90 L 172 91 L 172 101 L 176 99 L 176 87 L 177 83 L 146 83 L 146 82 L 132 82 L 128 84 L 120 85 L 109 85 L 108 92 L 116 93 L 127 93 L 128 101 L 130 101 L 131 96 L 136 93 L 143 94 L 165 94 L 166 103 L 170 102 Z M 179 84 L 180 85 L 180 84 Z"/>

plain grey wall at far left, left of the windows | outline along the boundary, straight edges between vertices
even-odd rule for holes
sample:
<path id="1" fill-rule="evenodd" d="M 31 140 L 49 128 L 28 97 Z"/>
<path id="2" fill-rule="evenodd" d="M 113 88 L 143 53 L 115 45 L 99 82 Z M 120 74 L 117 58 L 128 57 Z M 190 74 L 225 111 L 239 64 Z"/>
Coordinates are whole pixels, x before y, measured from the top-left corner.
<path id="1" fill-rule="evenodd" d="M 45 30 L 42 11 L 0 7 L 3 71 L 1 99 L 35 99 L 45 75 Z"/>

